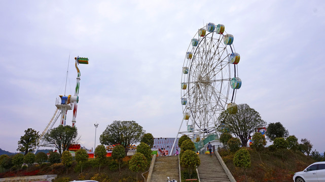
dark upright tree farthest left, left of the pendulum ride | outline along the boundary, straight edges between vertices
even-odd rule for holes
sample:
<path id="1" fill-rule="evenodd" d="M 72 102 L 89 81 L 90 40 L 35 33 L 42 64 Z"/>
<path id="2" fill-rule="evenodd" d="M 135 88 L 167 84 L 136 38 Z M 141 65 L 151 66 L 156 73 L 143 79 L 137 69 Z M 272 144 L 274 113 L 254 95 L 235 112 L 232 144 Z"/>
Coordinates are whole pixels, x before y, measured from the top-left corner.
<path id="1" fill-rule="evenodd" d="M 26 155 L 28 152 L 33 151 L 38 145 L 40 135 L 39 131 L 35 131 L 31 128 L 25 130 L 25 134 L 20 136 L 20 141 L 18 141 L 18 149 L 19 152 L 24 152 Z"/>

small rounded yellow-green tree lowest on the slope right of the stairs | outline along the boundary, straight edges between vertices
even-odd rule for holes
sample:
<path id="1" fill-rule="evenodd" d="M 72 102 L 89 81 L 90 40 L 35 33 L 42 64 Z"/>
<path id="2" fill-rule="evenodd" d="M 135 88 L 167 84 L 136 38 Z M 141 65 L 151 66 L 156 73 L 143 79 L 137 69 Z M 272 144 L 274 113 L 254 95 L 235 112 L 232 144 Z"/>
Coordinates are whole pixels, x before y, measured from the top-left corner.
<path id="1" fill-rule="evenodd" d="M 245 178 L 247 181 L 246 169 L 250 166 L 250 154 L 247 149 L 240 149 L 237 151 L 235 153 L 233 161 L 235 166 L 240 167 L 244 170 Z"/>

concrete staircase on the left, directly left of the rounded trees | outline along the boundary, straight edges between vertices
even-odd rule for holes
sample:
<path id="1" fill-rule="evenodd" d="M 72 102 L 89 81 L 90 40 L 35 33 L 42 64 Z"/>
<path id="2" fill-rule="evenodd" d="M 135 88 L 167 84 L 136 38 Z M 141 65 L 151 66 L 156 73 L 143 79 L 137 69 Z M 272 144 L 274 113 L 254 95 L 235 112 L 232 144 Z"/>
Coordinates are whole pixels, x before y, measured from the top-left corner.
<path id="1" fill-rule="evenodd" d="M 178 156 L 159 156 L 156 158 L 151 181 L 167 181 L 167 177 L 179 181 Z"/>

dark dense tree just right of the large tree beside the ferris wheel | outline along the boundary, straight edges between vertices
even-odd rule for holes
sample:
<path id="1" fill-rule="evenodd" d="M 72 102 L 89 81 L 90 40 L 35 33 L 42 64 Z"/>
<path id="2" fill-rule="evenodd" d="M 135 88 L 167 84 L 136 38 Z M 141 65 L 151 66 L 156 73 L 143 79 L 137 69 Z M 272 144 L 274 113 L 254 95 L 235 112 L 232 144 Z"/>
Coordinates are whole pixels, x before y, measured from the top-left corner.
<path id="1" fill-rule="evenodd" d="M 289 132 L 280 122 L 276 122 L 268 125 L 265 135 L 271 141 L 274 141 L 276 138 L 286 138 L 289 135 Z"/>

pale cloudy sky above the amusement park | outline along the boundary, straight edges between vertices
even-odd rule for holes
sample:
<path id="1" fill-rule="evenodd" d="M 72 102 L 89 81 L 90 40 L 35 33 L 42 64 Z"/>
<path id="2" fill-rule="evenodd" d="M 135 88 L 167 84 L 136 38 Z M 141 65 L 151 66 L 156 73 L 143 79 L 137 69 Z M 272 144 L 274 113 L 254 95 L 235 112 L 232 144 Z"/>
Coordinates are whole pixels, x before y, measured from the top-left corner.
<path id="1" fill-rule="evenodd" d="M 89 58 L 79 65 L 82 146 L 94 146 L 94 123 L 99 145 L 115 120 L 134 120 L 155 138 L 174 138 L 183 118 L 185 54 L 198 29 L 212 22 L 234 35 L 241 57 L 236 103 L 325 151 L 324 1 L 3 0 L 0 17 L 3 150 L 15 152 L 27 128 L 44 130 L 66 75 L 66 95 L 74 95 L 77 56 Z M 66 124 L 71 119 L 70 111 Z"/>

